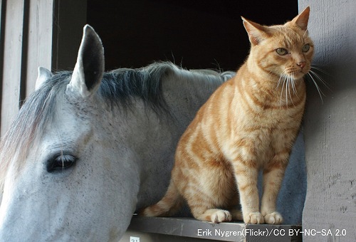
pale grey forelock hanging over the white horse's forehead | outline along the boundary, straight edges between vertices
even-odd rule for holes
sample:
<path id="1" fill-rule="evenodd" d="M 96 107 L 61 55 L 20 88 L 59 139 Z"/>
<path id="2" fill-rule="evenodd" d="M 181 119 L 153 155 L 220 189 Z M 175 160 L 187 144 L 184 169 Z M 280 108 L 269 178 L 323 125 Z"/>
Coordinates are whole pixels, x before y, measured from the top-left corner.
<path id="1" fill-rule="evenodd" d="M 32 93 L 24 102 L 18 115 L 9 127 L 0 142 L 0 191 L 4 185 L 7 169 L 11 160 L 26 159 L 28 150 L 41 137 L 44 127 L 52 122 L 56 103 L 63 95 L 69 81 L 69 72 L 54 75 L 51 80 L 44 83 L 40 89 Z M 21 163 L 16 162 L 15 170 L 19 171 Z"/>

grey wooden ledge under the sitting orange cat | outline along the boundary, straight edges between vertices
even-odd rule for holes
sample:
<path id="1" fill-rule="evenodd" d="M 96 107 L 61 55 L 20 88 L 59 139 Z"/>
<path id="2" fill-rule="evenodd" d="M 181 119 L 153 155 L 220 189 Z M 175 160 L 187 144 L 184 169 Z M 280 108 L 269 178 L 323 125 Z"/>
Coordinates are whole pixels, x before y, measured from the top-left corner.
<path id="1" fill-rule="evenodd" d="M 302 241 L 301 226 L 245 224 L 241 222 L 210 223 L 192 218 L 152 218 L 133 216 L 125 236 L 137 236 L 146 241 Z M 154 234 L 148 238 L 147 236 Z M 163 237 L 159 237 L 162 235 Z M 164 239 L 165 238 L 165 239 Z M 187 238 L 196 238 L 187 240 Z M 121 240 L 124 241 L 124 240 Z M 125 240 L 129 241 L 129 240 Z M 133 241 L 130 239 L 130 241 Z M 135 242 L 135 241 L 134 241 Z"/>

